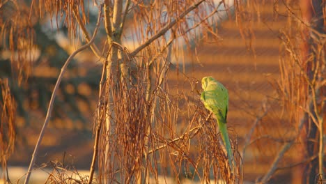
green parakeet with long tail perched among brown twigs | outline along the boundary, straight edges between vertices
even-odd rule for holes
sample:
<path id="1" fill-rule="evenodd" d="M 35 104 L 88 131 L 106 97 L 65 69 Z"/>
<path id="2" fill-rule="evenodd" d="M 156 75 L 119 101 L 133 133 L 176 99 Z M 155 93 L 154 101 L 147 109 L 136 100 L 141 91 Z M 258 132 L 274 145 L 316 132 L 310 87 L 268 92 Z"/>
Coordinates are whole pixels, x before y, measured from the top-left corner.
<path id="1" fill-rule="evenodd" d="M 228 90 L 223 84 L 217 82 L 213 77 L 203 77 L 201 79 L 201 101 L 206 109 L 210 110 L 216 118 L 219 125 L 219 132 L 221 132 L 224 146 L 228 154 L 228 163 L 231 170 L 233 169 L 233 153 L 230 139 L 228 138 L 228 131 L 226 129 L 226 115 L 228 114 Z"/>

